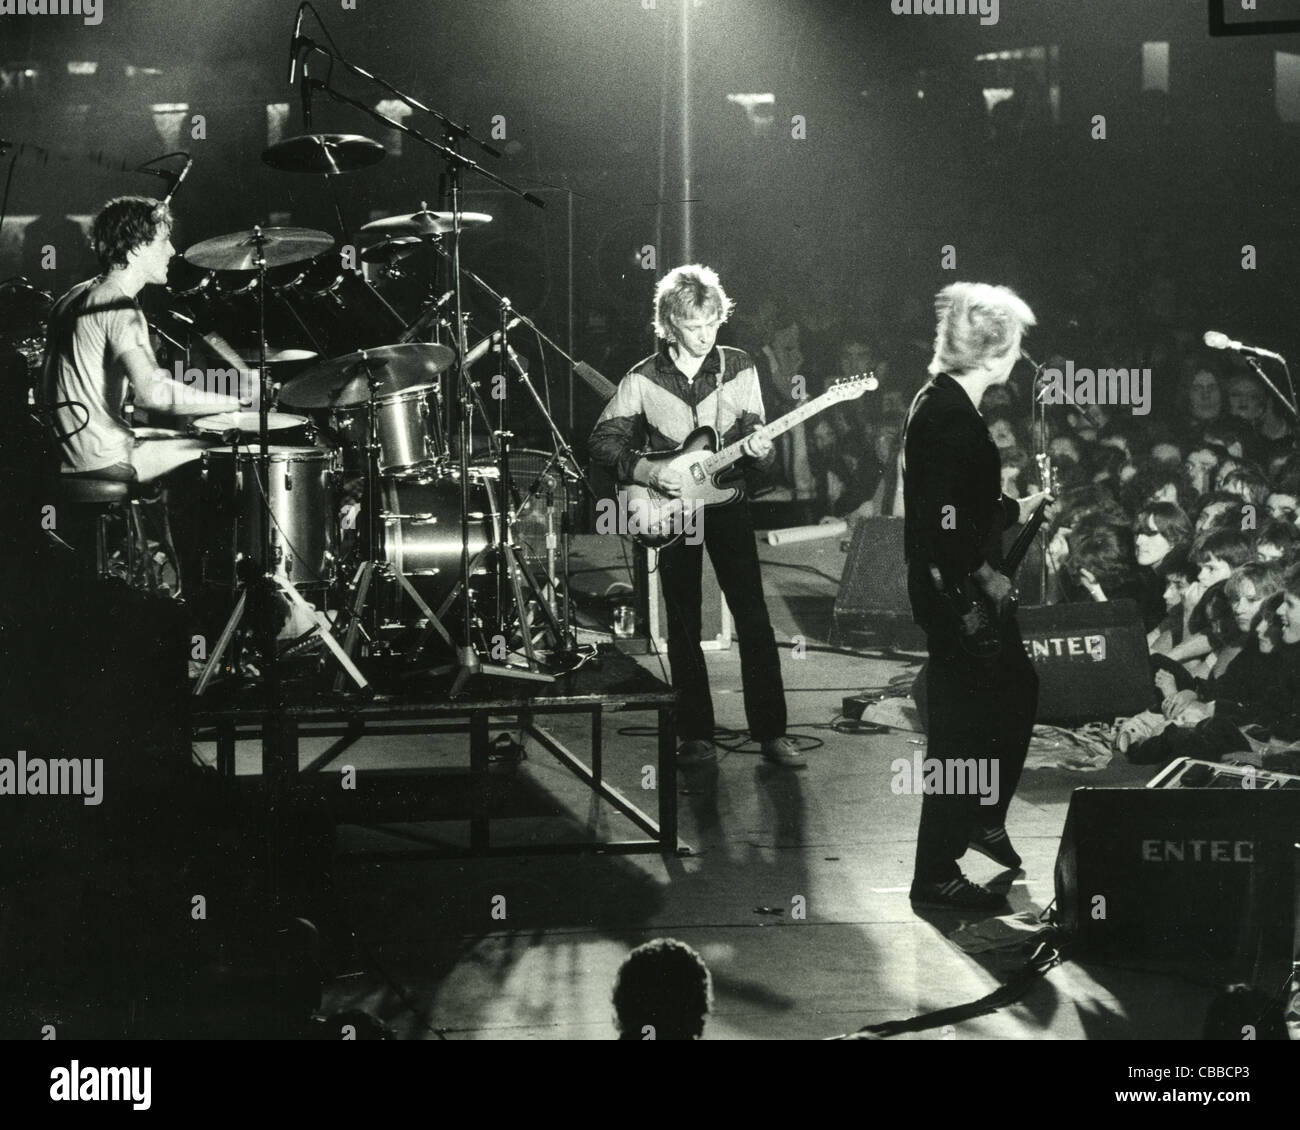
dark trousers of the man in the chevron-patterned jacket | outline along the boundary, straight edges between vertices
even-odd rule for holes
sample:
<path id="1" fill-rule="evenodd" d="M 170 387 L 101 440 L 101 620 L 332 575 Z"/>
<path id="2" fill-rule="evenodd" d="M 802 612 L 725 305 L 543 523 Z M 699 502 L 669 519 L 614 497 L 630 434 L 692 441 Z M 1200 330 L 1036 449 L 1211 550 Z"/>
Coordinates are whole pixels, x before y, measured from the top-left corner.
<path id="1" fill-rule="evenodd" d="M 785 736 L 785 688 L 776 636 L 763 599 L 758 546 L 749 503 L 711 506 L 699 516 L 703 545 L 677 541 L 659 551 L 659 579 L 668 610 L 668 663 L 672 687 L 681 693 L 677 736 L 682 741 L 710 739 L 714 701 L 708 671 L 699 648 L 699 577 L 703 550 L 714 564 L 740 637 L 740 675 L 745 687 L 745 718 L 755 741 Z"/>

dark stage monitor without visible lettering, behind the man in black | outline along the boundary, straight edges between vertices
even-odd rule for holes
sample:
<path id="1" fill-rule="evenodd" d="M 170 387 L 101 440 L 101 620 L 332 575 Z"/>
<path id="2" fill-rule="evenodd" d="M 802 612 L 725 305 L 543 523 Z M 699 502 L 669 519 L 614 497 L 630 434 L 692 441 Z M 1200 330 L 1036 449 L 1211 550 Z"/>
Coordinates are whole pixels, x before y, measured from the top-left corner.
<path id="1" fill-rule="evenodd" d="M 831 645 L 854 636 L 883 635 L 907 649 L 923 649 L 926 633 L 913 623 L 901 518 L 864 518 L 853 527 L 831 623 Z"/>

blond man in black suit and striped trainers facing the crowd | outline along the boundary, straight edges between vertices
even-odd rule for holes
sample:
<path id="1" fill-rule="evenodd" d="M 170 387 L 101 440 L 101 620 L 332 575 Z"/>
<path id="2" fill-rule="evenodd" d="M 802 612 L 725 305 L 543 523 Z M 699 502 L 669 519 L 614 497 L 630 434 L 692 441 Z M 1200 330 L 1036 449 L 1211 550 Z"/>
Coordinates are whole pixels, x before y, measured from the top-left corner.
<path id="1" fill-rule="evenodd" d="M 974 788 L 924 795 L 911 901 L 996 910 L 1004 897 L 966 879 L 957 860 L 974 848 L 1004 867 L 1020 866 L 1005 821 L 1024 767 L 1039 680 L 1015 623 L 1014 586 L 998 566 L 1002 531 L 1028 520 L 1046 495 L 1017 501 L 1001 493 L 998 451 L 979 404 L 989 386 L 1011 376 L 1035 317 L 1014 291 L 972 282 L 940 291 L 935 311 L 931 380 L 913 401 L 904 436 L 907 590 L 930 649 L 927 757 L 945 770 L 956 759 L 991 759 L 988 779 L 997 789 L 993 804 L 982 804 L 987 797 Z M 1000 625 L 1001 646 L 988 659 L 962 648 L 961 612 L 972 599 Z"/>

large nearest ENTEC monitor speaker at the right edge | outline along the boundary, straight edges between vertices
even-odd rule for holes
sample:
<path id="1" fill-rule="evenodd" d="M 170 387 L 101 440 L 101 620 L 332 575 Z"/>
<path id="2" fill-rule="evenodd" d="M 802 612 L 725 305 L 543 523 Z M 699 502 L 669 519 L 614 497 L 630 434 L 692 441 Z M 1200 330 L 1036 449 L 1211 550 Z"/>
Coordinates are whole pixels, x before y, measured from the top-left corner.
<path id="1" fill-rule="evenodd" d="M 1300 792 L 1075 789 L 1056 860 L 1074 956 L 1286 975 Z"/>

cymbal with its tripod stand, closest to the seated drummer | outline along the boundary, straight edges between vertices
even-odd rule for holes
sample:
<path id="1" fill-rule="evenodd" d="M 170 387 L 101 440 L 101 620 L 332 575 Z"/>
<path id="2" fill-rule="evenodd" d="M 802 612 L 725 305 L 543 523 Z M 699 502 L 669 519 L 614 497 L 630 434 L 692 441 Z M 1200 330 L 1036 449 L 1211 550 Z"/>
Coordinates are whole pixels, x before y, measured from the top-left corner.
<path id="1" fill-rule="evenodd" d="M 322 241 L 324 247 L 321 246 Z M 347 653 L 334 638 L 330 623 L 325 618 L 325 614 L 308 605 L 295 588 L 294 581 L 289 579 L 287 571 L 282 573 L 281 570 L 277 568 L 277 563 L 272 560 L 272 527 L 276 524 L 276 519 L 272 512 L 270 498 L 270 404 L 273 399 L 273 386 L 270 369 L 266 364 L 266 268 L 270 265 L 283 265 L 309 259 L 312 255 L 333 247 L 333 243 L 334 241 L 322 231 L 311 231 L 308 229 L 296 228 L 272 228 L 264 231 L 261 228 L 254 228 L 251 233 L 238 233 L 235 235 L 224 235 L 216 239 L 208 239 L 204 243 L 195 244 L 186 252 L 188 261 L 195 263 L 199 267 L 209 267 L 218 270 L 240 269 L 234 264 L 248 263 L 251 259 L 250 265 L 257 270 L 257 373 L 261 382 L 257 402 L 257 432 L 260 450 L 257 451 L 251 468 L 252 479 L 257 486 L 261 502 L 260 511 L 257 512 L 260 538 L 256 542 L 261 554 L 261 560 L 252 562 L 252 568 L 256 570 L 256 573 L 254 573 L 252 568 L 250 568 L 243 572 L 243 576 L 238 576 L 239 571 L 237 564 L 235 579 L 240 581 L 239 597 L 230 612 L 229 619 L 226 620 L 225 627 L 221 629 L 217 645 L 213 648 L 212 654 L 208 657 L 208 662 L 203 667 L 199 681 L 194 688 L 195 696 L 203 694 L 207 690 L 208 684 L 212 681 L 226 649 L 230 646 L 230 641 L 234 637 L 237 628 L 243 620 L 244 611 L 248 605 L 248 593 L 254 585 L 256 585 L 259 592 L 264 596 L 269 594 L 273 588 L 278 589 L 298 607 L 303 615 L 317 624 L 322 641 L 329 648 L 333 657 L 338 661 L 343 671 L 346 671 L 356 684 L 358 689 L 364 692 L 369 688 L 369 681 L 364 675 L 361 675 L 361 672 L 356 668 L 356 664 L 352 663 Z M 239 476 L 243 469 L 239 462 L 238 437 L 240 433 L 238 429 L 230 430 L 235 437 L 230 445 L 231 475 L 234 476 L 234 489 L 231 490 L 231 494 L 238 498 L 240 490 Z M 291 489 L 292 469 L 286 467 L 283 492 L 289 493 Z M 231 545 L 231 553 L 237 551 L 235 546 Z M 235 558 L 235 560 L 238 563 L 238 558 Z M 280 703 L 280 657 L 277 650 L 276 627 L 272 624 L 270 601 L 264 599 L 261 603 L 261 615 L 256 618 L 260 622 L 256 627 L 259 635 L 261 636 L 261 675 L 269 703 L 272 709 L 276 709 Z"/>

